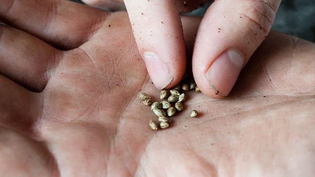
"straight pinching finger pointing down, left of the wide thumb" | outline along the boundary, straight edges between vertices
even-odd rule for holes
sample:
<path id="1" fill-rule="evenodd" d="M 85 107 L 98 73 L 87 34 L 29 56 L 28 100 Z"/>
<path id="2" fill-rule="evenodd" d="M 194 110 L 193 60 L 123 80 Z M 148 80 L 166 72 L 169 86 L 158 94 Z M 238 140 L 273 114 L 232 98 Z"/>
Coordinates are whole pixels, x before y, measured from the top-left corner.
<path id="1" fill-rule="evenodd" d="M 180 16 L 174 0 L 125 0 L 135 40 L 154 85 L 170 88 L 186 69 Z"/>

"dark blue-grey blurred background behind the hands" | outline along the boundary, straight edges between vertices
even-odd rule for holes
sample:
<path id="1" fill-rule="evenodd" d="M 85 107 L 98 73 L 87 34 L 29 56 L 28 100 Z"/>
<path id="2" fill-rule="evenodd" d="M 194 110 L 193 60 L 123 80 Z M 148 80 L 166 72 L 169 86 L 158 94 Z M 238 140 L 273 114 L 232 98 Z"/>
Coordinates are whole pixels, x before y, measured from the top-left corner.
<path id="1" fill-rule="evenodd" d="M 188 14 L 202 16 L 209 5 Z M 272 29 L 315 42 L 315 0 L 283 0 Z"/>

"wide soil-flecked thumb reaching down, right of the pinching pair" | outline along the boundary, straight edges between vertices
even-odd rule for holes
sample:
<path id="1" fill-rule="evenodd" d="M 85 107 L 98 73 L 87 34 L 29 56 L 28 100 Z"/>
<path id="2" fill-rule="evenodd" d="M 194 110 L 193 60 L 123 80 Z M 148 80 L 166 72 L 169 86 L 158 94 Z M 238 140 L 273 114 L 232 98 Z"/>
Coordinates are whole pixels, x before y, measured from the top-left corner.
<path id="1" fill-rule="evenodd" d="M 193 74 L 204 94 L 227 96 L 250 56 L 268 35 L 281 0 L 218 0 L 200 24 Z"/>

